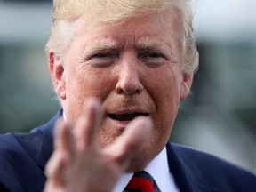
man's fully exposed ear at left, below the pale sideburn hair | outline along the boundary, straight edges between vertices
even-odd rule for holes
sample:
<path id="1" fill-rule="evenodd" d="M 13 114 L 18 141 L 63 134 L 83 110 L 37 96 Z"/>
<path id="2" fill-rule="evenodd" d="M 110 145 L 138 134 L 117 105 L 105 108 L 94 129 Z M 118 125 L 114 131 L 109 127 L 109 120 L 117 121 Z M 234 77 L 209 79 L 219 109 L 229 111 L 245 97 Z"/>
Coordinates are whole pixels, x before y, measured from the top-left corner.
<path id="1" fill-rule="evenodd" d="M 64 74 L 63 63 L 60 57 L 54 52 L 48 53 L 48 64 L 52 76 L 52 84 L 58 97 L 66 99 L 66 79 Z"/>

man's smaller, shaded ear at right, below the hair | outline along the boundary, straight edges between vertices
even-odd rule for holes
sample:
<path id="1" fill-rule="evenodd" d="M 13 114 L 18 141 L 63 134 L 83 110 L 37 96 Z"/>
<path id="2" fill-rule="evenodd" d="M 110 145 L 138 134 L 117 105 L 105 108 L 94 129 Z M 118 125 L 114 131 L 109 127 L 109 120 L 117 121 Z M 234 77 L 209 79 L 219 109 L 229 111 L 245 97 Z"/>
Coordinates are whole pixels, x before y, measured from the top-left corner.
<path id="1" fill-rule="evenodd" d="M 190 93 L 190 88 L 193 83 L 194 74 L 183 74 L 183 79 L 180 87 L 180 100 L 185 100 Z"/>

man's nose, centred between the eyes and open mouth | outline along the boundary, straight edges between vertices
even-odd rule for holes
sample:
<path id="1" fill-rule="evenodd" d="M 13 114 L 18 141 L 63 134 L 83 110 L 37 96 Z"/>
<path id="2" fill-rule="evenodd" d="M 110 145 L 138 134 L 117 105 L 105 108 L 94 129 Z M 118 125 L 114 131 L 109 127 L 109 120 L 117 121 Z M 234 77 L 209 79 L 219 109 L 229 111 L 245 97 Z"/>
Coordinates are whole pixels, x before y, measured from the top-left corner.
<path id="1" fill-rule="evenodd" d="M 140 71 L 136 61 L 124 62 L 120 66 L 116 92 L 118 94 L 140 93 L 143 85 L 140 82 Z"/>

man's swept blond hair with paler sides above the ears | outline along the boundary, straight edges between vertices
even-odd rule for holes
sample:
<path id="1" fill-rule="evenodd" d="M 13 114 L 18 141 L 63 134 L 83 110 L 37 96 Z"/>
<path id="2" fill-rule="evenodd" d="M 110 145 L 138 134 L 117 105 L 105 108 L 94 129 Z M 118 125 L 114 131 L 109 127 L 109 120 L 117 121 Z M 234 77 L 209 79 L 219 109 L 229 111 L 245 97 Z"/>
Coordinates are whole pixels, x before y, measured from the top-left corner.
<path id="1" fill-rule="evenodd" d="M 189 0 L 53 0 L 52 34 L 45 51 L 64 54 L 75 34 L 74 20 L 81 16 L 87 20 L 118 24 L 131 17 L 161 12 L 170 5 L 180 12 L 183 70 L 188 74 L 193 73 L 198 68 L 198 52 Z"/>

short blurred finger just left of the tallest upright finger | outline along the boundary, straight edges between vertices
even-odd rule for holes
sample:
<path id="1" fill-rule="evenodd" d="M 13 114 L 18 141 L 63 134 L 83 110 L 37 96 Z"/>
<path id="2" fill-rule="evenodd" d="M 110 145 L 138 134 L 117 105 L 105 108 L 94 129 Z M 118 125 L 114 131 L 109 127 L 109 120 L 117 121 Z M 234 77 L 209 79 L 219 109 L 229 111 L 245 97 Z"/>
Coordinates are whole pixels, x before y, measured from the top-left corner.
<path id="1" fill-rule="evenodd" d="M 60 118 L 55 127 L 54 147 L 67 151 L 71 156 L 74 154 L 74 135 L 71 132 L 72 125 Z"/>

